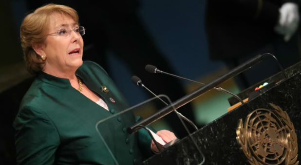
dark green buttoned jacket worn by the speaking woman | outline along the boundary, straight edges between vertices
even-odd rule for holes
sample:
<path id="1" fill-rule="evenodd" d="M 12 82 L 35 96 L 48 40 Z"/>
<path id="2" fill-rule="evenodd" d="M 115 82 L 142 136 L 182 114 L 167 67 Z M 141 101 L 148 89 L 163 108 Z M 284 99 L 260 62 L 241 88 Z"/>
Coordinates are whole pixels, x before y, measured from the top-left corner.
<path id="1" fill-rule="evenodd" d="M 22 99 L 13 125 L 18 164 L 140 163 L 141 152 L 150 150 L 151 138 L 144 130 L 126 133 L 135 122 L 132 114 L 99 124 L 103 139 L 95 129 L 99 120 L 128 108 L 111 78 L 91 61 L 85 61 L 76 75 L 105 100 L 110 111 L 78 92 L 68 79 L 40 72 Z M 101 90 L 102 85 L 108 93 Z"/>

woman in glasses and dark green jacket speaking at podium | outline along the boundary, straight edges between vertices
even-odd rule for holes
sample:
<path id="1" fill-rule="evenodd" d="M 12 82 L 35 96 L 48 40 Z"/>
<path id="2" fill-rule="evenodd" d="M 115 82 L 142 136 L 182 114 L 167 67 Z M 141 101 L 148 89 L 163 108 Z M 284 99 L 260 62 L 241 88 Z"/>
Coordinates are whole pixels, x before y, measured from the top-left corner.
<path id="1" fill-rule="evenodd" d="M 26 68 L 36 79 L 13 125 L 18 164 L 116 163 L 95 124 L 128 105 L 101 66 L 82 61 L 85 32 L 76 11 L 64 5 L 47 4 L 24 18 L 21 46 Z M 134 136 L 125 132 L 134 122 L 134 116 L 125 116 L 104 128 L 110 130 L 108 143 L 122 165 L 139 164 L 142 152 L 157 150 L 144 130 Z M 166 142 L 176 138 L 167 130 L 157 134 Z"/>

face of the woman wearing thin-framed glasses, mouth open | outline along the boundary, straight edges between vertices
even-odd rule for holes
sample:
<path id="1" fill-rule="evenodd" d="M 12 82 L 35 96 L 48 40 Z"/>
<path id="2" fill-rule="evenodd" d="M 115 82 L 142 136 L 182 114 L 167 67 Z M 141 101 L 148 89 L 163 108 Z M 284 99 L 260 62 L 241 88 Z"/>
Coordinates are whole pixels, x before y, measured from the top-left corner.
<path id="1" fill-rule="evenodd" d="M 54 13 L 49 17 L 48 34 L 43 45 L 46 55 L 44 72 L 57 75 L 75 70 L 82 65 L 84 42 L 79 33 L 71 31 L 70 35 L 60 36 L 58 31 L 78 28 L 71 16 Z"/>

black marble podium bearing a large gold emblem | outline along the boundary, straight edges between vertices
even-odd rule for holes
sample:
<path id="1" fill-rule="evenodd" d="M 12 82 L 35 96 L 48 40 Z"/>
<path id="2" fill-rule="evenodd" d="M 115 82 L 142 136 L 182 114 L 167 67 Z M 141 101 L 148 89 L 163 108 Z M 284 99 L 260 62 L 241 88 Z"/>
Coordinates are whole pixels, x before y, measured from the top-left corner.
<path id="1" fill-rule="evenodd" d="M 301 63 L 263 82 L 275 82 L 225 115 L 191 134 L 204 165 L 290 165 L 301 156 Z M 238 94 L 249 96 L 258 84 Z M 238 102 L 230 98 L 231 105 Z M 226 111 L 226 110 L 225 110 Z M 287 115 L 286 115 L 287 114 Z M 198 165 L 203 160 L 187 136 L 143 165 Z"/>

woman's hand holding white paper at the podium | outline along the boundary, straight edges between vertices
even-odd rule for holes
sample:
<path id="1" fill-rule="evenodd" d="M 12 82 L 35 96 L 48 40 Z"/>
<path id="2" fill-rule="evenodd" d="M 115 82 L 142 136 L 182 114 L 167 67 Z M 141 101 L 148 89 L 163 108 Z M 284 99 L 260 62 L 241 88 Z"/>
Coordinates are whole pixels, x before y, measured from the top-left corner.
<path id="1" fill-rule="evenodd" d="M 169 143 L 171 140 L 177 138 L 173 132 L 170 132 L 168 130 L 160 130 L 156 134 L 158 136 L 160 136 L 166 143 Z M 159 143 L 158 143 L 158 146 L 159 146 L 160 150 L 164 149 L 163 146 Z M 151 140 L 151 150 L 155 153 L 159 152 L 159 149 L 157 148 L 157 146 L 155 145 L 155 142 L 153 140 Z"/>

